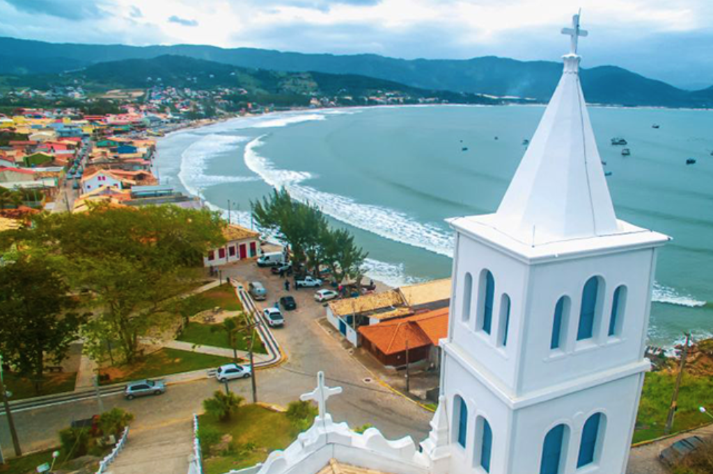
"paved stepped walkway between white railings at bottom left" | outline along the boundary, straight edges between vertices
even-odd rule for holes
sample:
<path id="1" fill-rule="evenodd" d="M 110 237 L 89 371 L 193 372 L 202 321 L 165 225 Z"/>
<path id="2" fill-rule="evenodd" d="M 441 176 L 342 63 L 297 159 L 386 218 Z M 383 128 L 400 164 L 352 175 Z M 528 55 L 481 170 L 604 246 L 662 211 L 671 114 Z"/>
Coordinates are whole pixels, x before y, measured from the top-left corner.
<path id="1" fill-rule="evenodd" d="M 193 421 L 131 431 L 126 446 L 108 467 L 111 474 L 186 474 L 193 453 Z"/>

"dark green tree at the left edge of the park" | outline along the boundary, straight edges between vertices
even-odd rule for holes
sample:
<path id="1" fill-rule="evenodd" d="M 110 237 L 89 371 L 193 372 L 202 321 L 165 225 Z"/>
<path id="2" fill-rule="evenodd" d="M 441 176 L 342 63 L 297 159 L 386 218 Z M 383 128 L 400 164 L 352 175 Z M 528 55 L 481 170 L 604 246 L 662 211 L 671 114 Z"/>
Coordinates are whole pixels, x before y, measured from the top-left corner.
<path id="1" fill-rule="evenodd" d="M 59 364 L 83 317 L 55 263 L 42 256 L 0 265 L 0 350 L 39 393 L 46 362 Z"/>

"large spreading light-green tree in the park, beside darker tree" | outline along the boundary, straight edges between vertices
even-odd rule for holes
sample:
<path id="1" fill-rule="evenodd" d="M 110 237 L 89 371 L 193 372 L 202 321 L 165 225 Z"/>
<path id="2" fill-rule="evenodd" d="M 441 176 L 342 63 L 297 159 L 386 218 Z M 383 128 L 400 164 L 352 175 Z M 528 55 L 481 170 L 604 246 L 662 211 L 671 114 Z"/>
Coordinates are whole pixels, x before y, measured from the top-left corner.
<path id="1" fill-rule="evenodd" d="M 81 214 L 39 214 L 16 232 L 28 251 L 42 248 L 66 261 L 76 288 L 92 296 L 89 339 L 116 340 L 125 362 L 138 355 L 139 337 L 160 324 L 161 301 L 180 293 L 188 268 L 225 240 L 220 217 L 177 206 L 110 208 Z M 193 275 L 193 273 L 190 273 Z M 165 316 L 164 316 L 165 317 Z"/>

